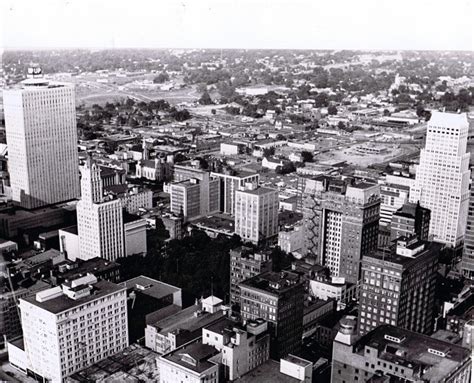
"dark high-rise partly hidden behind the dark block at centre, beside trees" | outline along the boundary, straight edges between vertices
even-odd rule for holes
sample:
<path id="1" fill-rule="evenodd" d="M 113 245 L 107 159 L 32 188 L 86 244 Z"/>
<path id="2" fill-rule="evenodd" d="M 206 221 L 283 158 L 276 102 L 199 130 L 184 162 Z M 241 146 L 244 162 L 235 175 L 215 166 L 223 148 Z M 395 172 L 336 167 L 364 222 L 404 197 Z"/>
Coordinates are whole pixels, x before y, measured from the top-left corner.
<path id="1" fill-rule="evenodd" d="M 272 260 L 266 253 L 255 253 L 248 247 L 230 251 L 230 303 L 240 303 L 239 283 L 272 270 Z"/>

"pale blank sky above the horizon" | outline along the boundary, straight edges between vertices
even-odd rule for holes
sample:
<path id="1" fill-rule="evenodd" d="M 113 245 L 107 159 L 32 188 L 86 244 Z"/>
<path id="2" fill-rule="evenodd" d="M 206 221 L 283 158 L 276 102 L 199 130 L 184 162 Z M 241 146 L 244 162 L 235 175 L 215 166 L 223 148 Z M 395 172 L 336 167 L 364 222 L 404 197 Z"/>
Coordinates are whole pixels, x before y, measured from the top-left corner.
<path id="1" fill-rule="evenodd" d="M 472 0 L 0 2 L 6 48 L 474 50 Z"/>

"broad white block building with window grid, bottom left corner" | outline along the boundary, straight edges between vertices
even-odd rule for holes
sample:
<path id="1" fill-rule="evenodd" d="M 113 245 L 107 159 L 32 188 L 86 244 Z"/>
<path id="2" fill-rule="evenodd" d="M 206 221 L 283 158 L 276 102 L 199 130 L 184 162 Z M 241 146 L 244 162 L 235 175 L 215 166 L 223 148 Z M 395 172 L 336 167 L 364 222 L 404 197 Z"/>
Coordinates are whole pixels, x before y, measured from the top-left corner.
<path id="1" fill-rule="evenodd" d="M 92 274 L 22 298 L 20 310 L 25 370 L 38 379 L 62 382 L 128 346 L 125 287 Z"/>

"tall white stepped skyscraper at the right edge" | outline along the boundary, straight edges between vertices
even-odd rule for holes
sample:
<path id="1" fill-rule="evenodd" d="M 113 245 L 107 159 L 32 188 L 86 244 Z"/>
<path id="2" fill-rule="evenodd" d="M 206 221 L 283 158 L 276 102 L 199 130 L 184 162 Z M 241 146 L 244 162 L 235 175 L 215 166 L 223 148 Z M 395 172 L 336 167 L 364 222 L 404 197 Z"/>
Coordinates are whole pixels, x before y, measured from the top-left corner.
<path id="1" fill-rule="evenodd" d="M 431 210 L 434 241 L 458 246 L 466 230 L 469 200 L 469 123 L 466 114 L 433 112 L 410 201 Z"/>

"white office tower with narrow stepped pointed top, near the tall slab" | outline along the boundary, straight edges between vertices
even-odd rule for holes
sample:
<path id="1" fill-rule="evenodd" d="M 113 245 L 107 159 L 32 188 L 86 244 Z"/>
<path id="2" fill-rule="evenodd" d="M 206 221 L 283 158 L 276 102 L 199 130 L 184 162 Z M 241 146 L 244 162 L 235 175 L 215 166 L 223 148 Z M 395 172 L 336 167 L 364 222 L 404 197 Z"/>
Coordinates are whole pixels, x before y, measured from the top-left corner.
<path id="1" fill-rule="evenodd" d="M 125 255 L 122 201 L 104 196 L 100 167 L 90 157 L 80 170 L 81 200 L 76 209 L 79 258 L 114 261 Z"/>

